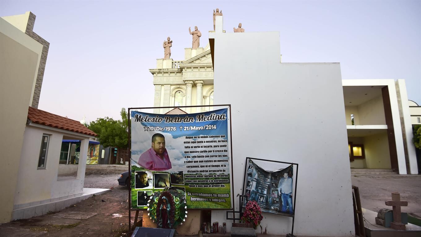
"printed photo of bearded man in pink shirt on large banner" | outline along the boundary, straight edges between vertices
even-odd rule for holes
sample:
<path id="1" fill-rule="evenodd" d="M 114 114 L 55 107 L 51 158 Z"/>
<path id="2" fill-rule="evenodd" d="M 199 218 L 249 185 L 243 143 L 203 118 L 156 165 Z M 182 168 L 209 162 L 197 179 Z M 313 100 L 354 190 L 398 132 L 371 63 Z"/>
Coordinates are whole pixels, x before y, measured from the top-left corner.
<path id="1" fill-rule="evenodd" d="M 139 165 L 148 170 L 169 170 L 171 161 L 165 149 L 165 137 L 160 133 L 152 136 L 152 147 L 145 151 L 139 157 Z"/>

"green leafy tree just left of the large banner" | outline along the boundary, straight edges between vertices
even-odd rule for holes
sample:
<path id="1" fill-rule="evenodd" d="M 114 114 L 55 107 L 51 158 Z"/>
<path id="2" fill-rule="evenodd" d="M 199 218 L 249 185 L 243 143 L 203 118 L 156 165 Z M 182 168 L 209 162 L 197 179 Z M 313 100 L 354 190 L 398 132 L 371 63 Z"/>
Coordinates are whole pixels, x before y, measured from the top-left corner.
<path id="1" fill-rule="evenodd" d="M 98 134 L 98 140 L 104 147 L 126 148 L 128 146 L 128 116 L 127 111 L 120 111 L 122 120 L 113 118 L 97 118 L 88 128 Z"/>

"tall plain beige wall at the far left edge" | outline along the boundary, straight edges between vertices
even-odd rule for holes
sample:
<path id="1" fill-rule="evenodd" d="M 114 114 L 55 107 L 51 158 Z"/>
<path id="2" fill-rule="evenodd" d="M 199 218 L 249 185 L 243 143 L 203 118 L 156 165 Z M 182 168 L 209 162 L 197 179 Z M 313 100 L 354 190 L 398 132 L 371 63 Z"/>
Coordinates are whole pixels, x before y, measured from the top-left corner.
<path id="1" fill-rule="evenodd" d="M 24 140 L 28 106 L 32 98 L 43 46 L 0 18 L 0 223 L 11 220 Z"/>

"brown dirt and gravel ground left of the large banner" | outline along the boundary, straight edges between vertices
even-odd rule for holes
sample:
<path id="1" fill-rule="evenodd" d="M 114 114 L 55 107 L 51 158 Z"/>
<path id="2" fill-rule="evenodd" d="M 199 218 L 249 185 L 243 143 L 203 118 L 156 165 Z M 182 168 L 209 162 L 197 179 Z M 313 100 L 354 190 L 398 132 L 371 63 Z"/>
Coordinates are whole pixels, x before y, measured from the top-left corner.
<path id="1" fill-rule="evenodd" d="M 0 226 L 0 236 L 7 237 L 63 237 L 63 236 L 126 236 L 128 229 L 128 189 L 119 186 L 119 173 L 86 175 L 86 188 L 104 188 L 111 191 L 88 198 L 58 213 L 27 220 L 13 221 Z M 83 219 L 55 218 L 55 215 L 72 212 L 97 213 Z M 120 214 L 121 217 L 112 214 Z M 47 224 L 54 223 L 54 224 Z"/>

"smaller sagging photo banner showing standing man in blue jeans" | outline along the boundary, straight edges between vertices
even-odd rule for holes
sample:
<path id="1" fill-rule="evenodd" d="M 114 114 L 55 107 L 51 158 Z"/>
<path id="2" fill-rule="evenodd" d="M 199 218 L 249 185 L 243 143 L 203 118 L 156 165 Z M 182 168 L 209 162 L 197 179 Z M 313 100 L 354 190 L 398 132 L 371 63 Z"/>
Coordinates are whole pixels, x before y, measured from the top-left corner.
<path id="1" fill-rule="evenodd" d="M 269 172 L 248 159 L 246 169 L 244 195 L 249 201 L 256 201 L 262 212 L 293 215 L 292 165 L 282 170 Z M 246 201 L 243 207 L 245 203 Z"/>

